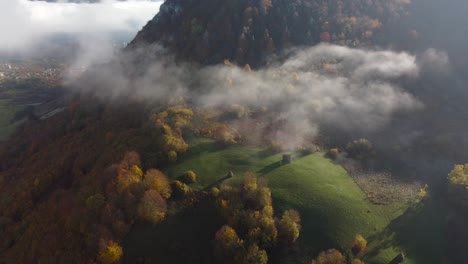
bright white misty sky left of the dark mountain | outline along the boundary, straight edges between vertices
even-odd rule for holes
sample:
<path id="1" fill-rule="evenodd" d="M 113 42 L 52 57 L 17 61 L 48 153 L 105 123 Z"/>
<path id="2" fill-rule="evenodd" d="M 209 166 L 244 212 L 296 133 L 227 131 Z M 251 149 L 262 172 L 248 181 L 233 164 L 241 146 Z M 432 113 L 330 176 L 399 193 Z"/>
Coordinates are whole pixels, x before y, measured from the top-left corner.
<path id="1" fill-rule="evenodd" d="M 162 1 L 102 0 L 48 3 L 0 0 L 0 52 L 25 51 L 52 34 L 108 42 L 110 33 L 131 39 L 159 11 Z"/>

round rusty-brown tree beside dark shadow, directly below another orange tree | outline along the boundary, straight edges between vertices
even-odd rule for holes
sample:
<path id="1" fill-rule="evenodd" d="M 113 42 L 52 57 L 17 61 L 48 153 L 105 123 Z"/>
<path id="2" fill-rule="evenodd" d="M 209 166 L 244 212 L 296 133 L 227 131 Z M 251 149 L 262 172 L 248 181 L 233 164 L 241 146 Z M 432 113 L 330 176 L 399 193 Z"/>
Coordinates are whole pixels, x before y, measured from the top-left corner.
<path id="1" fill-rule="evenodd" d="M 148 190 L 141 199 L 137 212 L 141 219 L 157 224 L 166 216 L 167 204 L 159 192 Z"/>

